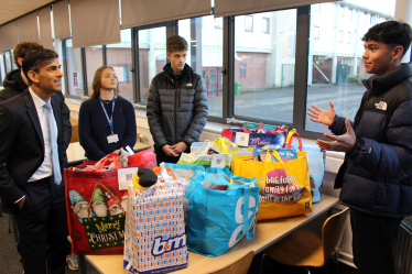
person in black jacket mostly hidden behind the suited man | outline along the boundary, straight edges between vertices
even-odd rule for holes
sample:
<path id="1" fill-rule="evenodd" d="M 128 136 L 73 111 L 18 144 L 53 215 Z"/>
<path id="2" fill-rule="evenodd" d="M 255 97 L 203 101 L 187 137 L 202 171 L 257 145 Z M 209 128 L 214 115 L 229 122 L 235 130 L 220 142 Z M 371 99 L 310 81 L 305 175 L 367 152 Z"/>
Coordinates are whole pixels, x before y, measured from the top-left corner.
<path id="1" fill-rule="evenodd" d="M 23 41 L 14 46 L 13 57 L 14 57 L 14 64 L 18 66 L 18 68 L 7 74 L 3 80 L 4 89 L 0 90 L 0 102 L 8 100 L 10 98 L 13 98 L 17 95 L 20 95 L 25 89 L 29 88 L 28 80 L 25 79 L 25 76 L 21 69 L 21 66 L 22 66 L 25 55 L 36 50 L 44 50 L 44 47 L 42 44 L 32 42 L 32 41 Z M 55 95 L 61 97 L 61 99 L 64 101 L 64 96 L 62 91 L 58 91 Z M 67 150 L 67 146 L 71 143 L 71 138 L 72 138 L 72 123 L 71 123 L 71 111 L 68 110 L 66 103 L 63 105 L 62 114 L 63 114 L 63 128 L 64 128 L 63 146 L 65 150 Z"/>

